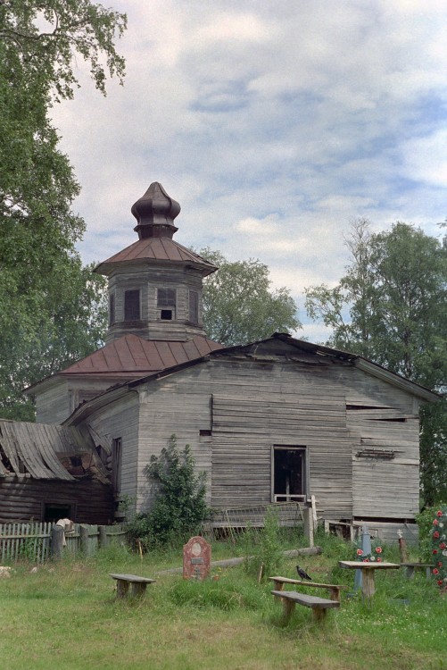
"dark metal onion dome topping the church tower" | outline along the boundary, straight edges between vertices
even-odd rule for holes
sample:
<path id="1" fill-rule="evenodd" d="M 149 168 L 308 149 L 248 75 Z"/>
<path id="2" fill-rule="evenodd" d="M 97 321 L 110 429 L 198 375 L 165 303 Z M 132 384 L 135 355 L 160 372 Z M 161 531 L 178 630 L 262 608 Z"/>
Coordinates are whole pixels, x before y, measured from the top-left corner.
<path id="1" fill-rule="evenodd" d="M 134 230 L 139 239 L 172 238 L 178 230 L 174 219 L 180 212 L 180 205 L 168 196 L 158 181 L 153 181 L 130 211 L 137 219 Z"/>

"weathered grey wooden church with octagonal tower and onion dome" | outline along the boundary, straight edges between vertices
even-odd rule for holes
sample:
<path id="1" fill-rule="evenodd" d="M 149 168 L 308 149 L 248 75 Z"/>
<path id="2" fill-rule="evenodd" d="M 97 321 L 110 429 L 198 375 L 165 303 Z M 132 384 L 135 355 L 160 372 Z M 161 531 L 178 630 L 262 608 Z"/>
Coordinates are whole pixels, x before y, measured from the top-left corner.
<path id="1" fill-rule="evenodd" d="M 137 241 L 99 264 L 105 346 L 29 389 L 37 422 L 76 429 L 112 466 L 115 499 L 150 506 L 145 465 L 172 434 L 219 509 L 305 503 L 395 539 L 419 498 L 419 406 L 437 396 L 361 356 L 275 333 L 222 347 L 203 332 L 217 268 L 173 239 L 180 206 L 154 182 Z"/>

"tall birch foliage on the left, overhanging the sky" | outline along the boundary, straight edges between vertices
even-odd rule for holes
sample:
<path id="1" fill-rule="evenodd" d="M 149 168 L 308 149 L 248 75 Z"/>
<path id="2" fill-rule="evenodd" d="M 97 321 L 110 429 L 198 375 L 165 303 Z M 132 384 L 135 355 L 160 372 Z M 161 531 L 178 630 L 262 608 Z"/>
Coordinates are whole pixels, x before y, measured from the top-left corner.
<path id="1" fill-rule="evenodd" d="M 123 14 L 90 0 L 0 2 L 0 414 L 31 420 L 21 389 L 91 353 L 104 332 L 103 278 L 75 251 L 85 222 L 51 107 L 78 86 L 76 57 L 105 93 L 124 75 Z"/>

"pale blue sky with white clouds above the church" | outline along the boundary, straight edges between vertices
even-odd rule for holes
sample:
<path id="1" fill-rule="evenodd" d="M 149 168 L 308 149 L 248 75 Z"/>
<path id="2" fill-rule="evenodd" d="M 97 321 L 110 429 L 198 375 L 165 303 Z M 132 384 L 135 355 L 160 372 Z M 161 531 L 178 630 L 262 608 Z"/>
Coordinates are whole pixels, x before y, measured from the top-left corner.
<path id="1" fill-rule="evenodd" d="M 159 181 L 176 241 L 257 258 L 290 289 L 334 286 L 358 217 L 443 237 L 444 0 L 109 0 L 128 14 L 125 84 L 81 88 L 54 125 L 81 185 L 85 263 L 137 240 L 130 207 Z"/>

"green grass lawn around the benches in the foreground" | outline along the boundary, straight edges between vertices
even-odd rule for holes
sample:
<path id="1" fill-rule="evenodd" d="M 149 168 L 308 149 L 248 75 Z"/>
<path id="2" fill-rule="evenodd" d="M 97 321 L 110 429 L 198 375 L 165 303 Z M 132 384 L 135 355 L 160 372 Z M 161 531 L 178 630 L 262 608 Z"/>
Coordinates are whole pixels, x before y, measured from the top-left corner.
<path id="1" fill-rule="evenodd" d="M 406 580 L 401 571 L 377 574 L 374 602 L 352 592 L 353 572 L 337 561 L 352 548 L 323 539 L 322 555 L 302 564 L 315 581 L 349 586 L 342 607 L 313 624 L 310 609 L 295 607 L 288 624 L 270 594 L 244 566 L 213 569 L 204 582 L 160 574 L 144 599 L 117 601 L 110 572 L 153 577 L 181 565 L 181 549 L 143 560 L 111 549 L 84 561 L 14 566 L 0 580 L 0 655 L 4 670 L 440 670 L 447 668 L 447 599 L 425 574 Z M 215 559 L 237 548 L 217 543 Z M 393 556 L 387 552 L 387 559 Z M 294 576 L 286 561 L 285 576 Z M 310 590 L 308 592 L 311 592 Z M 315 595 L 315 591 L 313 591 Z M 322 593 L 319 595 L 323 595 Z M 409 601 L 408 604 L 402 600 Z"/>

